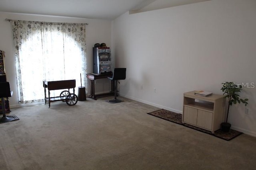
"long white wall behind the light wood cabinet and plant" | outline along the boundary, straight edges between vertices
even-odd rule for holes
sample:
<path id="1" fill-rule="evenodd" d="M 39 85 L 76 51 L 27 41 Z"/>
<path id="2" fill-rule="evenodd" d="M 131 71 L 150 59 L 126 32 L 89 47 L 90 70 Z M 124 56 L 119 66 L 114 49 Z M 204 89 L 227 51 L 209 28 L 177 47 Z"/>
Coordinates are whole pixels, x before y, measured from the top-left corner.
<path id="1" fill-rule="evenodd" d="M 255 18 L 255 0 L 126 12 L 112 22 L 115 63 L 127 68 L 120 94 L 182 113 L 184 92 L 222 94 L 222 82 L 252 82 L 255 88 L 241 93 L 249 99 L 249 115 L 244 105 L 232 106 L 229 122 L 233 129 L 256 136 Z"/>

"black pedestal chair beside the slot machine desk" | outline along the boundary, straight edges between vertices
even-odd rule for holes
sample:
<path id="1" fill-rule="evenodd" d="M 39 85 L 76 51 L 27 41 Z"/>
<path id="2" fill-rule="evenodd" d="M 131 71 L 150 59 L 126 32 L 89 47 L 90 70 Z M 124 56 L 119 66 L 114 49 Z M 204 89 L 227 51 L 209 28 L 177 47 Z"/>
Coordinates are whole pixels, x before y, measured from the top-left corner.
<path id="1" fill-rule="evenodd" d="M 117 82 L 118 80 L 124 80 L 126 78 L 126 68 L 114 68 L 113 76 L 108 77 L 110 80 L 115 80 L 115 98 L 109 100 L 110 103 L 120 103 L 122 100 L 117 99 Z"/>

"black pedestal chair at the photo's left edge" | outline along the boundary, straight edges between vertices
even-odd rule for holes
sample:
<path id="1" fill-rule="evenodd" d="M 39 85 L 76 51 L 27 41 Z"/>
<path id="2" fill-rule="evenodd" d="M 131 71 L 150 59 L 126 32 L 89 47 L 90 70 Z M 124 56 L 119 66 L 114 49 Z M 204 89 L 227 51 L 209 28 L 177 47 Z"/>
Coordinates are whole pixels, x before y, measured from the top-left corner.
<path id="1" fill-rule="evenodd" d="M 3 117 L 0 119 L 0 123 L 6 123 L 13 121 L 13 117 L 6 117 L 5 115 L 5 100 L 4 98 L 12 97 L 12 92 L 10 90 L 10 84 L 9 82 L 0 82 L 0 98 L 2 102 L 2 113 Z"/>

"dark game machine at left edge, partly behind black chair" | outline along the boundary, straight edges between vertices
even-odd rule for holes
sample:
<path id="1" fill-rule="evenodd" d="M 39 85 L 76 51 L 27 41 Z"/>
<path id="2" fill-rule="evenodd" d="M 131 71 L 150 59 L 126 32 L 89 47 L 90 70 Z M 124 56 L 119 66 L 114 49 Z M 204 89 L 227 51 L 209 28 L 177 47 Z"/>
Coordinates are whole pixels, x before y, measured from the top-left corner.
<path id="1" fill-rule="evenodd" d="M 4 51 L 0 50 L 0 82 L 6 82 L 6 74 L 4 67 Z M 10 113 L 8 98 L 4 98 L 5 113 Z M 2 104 L 0 105 L 0 114 L 2 114 Z"/>

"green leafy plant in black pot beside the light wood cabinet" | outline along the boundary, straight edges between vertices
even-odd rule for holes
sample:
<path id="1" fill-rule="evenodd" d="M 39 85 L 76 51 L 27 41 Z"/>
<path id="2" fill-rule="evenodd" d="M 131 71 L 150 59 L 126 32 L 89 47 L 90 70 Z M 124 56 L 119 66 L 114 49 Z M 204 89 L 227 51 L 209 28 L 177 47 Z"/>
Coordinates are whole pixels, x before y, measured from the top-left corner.
<path id="1" fill-rule="evenodd" d="M 226 117 L 226 122 L 221 123 L 221 129 L 224 132 L 228 132 L 231 124 L 228 123 L 228 113 L 229 113 L 229 107 L 232 106 L 232 104 L 240 104 L 241 102 L 245 104 L 245 106 L 248 105 L 248 99 L 241 99 L 240 98 L 240 92 L 242 90 L 242 85 L 241 84 L 236 84 L 234 82 L 224 82 L 222 83 L 222 90 L 223 95 L 225 98 L 228 98 L 228 111 L 227 111 L 227 117 Z"/>

